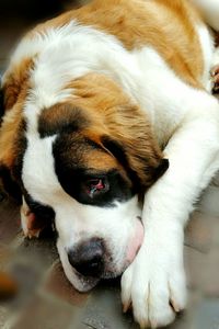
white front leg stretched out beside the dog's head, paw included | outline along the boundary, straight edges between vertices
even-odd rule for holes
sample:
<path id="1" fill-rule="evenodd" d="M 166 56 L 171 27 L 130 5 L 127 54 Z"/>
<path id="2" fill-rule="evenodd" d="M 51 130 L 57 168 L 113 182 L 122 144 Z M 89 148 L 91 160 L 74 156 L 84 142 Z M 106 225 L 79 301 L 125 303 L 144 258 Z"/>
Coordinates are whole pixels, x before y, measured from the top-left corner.
<path id="1" fill-rule="evenodd" d="M 219 168 L 219 103 L 191 91 L 183 104 L 191 110 L 164 150 L 170 168 L 145 196 L 142 247 L 122 277 L 124 310 L 132 305 L 141 328 L 165 326 L 185 307 L 184 226 Z"/>

